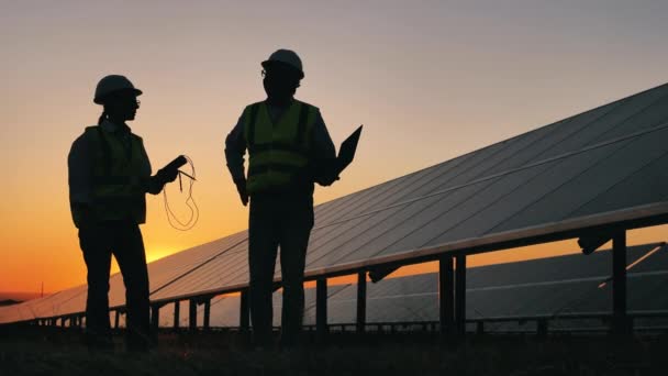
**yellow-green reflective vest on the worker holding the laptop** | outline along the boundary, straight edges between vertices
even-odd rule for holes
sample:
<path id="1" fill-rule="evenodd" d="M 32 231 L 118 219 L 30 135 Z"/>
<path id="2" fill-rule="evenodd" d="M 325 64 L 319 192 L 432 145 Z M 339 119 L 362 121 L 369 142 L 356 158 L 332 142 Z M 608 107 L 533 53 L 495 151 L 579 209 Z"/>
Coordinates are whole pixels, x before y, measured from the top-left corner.
<path id="1" fill-rule="evenodd" d="M 281 191 L 304 179 L 318 108 L 292 101 L 278 122 L 265 102 L 246 107 L 244 136 L 249 154 L 246 190 L 249 195 Z"/>

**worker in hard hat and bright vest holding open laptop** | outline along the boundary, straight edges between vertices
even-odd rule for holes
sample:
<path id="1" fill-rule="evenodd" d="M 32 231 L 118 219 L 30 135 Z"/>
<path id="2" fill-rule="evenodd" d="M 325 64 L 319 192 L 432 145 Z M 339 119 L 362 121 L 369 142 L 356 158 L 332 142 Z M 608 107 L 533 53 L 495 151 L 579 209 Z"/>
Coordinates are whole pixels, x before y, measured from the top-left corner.
<path id="1" fill-rule="evenodd" d="M 304 77 L 299 56 L 278 49 L 261 63 L 267 99 L 245 108 L 225 140 L 225 157 L 244 206 L 250 199 L 249 302 L 253 338 L 270 345 L 271 292 L 280 246 L 283 303 L 281 345 L 297 344 L 301 331 L 303 274 L 313 228 L 313 183 L 336 177 L 321 166 L 335 161 L 335 150 L 316 107 L 294 99 Z M 248 151 L 248 177 L 244 154 Z"/>

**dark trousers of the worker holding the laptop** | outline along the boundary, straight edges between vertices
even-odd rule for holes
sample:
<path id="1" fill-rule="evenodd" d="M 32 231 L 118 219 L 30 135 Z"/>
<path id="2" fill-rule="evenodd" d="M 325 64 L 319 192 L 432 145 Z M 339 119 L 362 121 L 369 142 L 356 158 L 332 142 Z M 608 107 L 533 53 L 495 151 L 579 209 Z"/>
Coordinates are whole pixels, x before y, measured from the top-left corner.
<path id="1" fill-rule="evenodd" d="M 250 320 L 256 344 L 271 339 L 274 268 L 280 246 L 283 303 L 281 342 L 293 344 L 302 327 L 304 263 L 313 228 L 311 197 L 253 197 L 248 225 Z"/>

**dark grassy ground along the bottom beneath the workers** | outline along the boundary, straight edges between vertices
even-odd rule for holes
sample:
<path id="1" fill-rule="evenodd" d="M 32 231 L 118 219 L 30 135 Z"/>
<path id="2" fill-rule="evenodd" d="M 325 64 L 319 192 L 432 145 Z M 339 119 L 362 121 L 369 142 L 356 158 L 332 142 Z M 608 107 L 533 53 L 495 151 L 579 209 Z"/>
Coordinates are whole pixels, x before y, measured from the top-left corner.
<path id="1" fill-rule="evenodd" d="M 235 334 L 163 334 L 147 354 L 89 353 L 76 332 L 0 331 L 0 375 L 667 375 L 668 341 L 606 336 L 483 336 L 442 345 L 405 335 L 334 335 L 255 351 Z"/>

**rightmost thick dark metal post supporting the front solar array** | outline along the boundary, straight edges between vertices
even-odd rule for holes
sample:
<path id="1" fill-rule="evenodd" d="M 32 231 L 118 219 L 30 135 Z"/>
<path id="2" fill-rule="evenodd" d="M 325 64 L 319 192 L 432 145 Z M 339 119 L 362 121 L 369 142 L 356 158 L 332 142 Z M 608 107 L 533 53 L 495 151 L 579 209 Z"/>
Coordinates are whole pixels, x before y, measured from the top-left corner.
<path id="1" fill-rule="evenodd" d="M 626 317 L 626 231 L 612 237 L 612 332 L 627 333 Z"/>

